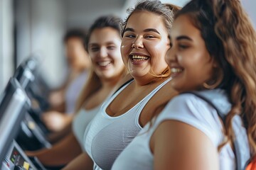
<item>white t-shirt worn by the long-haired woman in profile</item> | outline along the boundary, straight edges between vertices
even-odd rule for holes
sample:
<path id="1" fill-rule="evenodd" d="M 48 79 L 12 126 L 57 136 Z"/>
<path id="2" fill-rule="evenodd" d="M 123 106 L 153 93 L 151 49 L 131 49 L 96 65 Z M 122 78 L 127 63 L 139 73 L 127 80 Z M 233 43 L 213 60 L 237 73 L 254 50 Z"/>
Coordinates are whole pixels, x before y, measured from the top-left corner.
<path id="1" fill-rule="evenodd" d="M 230 110 L 227 98 L 213 98 L 215 103 L 220 103 L 223 109 Z M 149 129 L 149 123 L 139 132 L 139 135 L 119 154 L 115 160 L 112 170 L 122 169 L 153 169 L 154 155 L 151 153 L 149 141 L 154 130 L 164 120 L 179 120 L 187 123 L 205 133 L 213 145 L 218 147 L 223 142 L 223 125 L 220 123 L 218 113 L 203 99 L 193 94 L 182 94 L 173 98 L 159 114 L 153 126 Z M 234 123 L 235 122 L 235 123 Z M 249 146 L 245 128 L 241 127 L 240 116 L 234 118 L 233 127 L 240 132 L 239 140 L 245 144 L 242 157 L 250 157 Z M 235 169 L 235 154 L 230 145 L 225 145 L 219 153 L 220 170 Z"/>

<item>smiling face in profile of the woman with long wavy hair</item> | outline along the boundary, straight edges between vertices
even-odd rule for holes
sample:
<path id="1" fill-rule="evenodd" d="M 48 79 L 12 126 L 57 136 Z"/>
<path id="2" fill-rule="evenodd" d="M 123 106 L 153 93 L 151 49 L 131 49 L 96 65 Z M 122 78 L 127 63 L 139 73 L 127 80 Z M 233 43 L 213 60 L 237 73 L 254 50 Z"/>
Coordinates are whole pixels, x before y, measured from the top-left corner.
<path id="1" fill-rule="evenodd" d="M 166 53 L 171 68 L 171 85 L 177 91 L 203 89 L 203 83 L 213 77 L 215 62 L 206 44 L 188 16 L 176 18 L 171 28 L 171 47 Z"/>

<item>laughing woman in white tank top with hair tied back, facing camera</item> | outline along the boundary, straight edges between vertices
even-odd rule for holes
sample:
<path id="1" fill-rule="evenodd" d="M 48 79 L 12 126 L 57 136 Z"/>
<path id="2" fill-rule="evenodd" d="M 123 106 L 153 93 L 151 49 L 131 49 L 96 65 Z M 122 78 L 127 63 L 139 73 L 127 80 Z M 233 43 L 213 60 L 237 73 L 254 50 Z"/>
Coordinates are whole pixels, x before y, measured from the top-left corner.
<path id="1" fill-rule="evenodd" d="M 165 88 L 171 80 L 164 57 L 173 16 L 160 1 L 142 1 L 124 22 L 122 59 L 134 80 L 107 98 L 85 130 L 85 150 L 94 169 L 111 169 L 154 109 L 176 95 L 176 91 L 166 95 Z"/>

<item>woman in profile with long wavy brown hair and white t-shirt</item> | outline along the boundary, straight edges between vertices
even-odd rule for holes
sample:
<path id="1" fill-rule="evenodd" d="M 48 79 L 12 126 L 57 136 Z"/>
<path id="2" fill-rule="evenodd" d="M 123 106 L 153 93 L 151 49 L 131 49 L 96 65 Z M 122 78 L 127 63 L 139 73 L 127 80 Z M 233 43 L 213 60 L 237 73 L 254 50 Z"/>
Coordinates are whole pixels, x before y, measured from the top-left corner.
<path id="1" fill-rule="evenodd" d="M 256 152 L 256 33 L 240 1 L 190 1 L 170 37 L 170 88 L 183 94 L 112 169 L 245 169 Z"/>

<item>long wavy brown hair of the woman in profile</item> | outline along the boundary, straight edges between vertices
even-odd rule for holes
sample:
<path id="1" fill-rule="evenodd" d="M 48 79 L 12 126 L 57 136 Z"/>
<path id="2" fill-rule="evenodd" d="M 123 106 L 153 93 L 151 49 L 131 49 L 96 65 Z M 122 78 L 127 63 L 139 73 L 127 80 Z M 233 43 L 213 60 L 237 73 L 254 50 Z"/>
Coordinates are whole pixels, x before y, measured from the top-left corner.
<path id="1" fill-rule="evenodd" d="M 218 88 L 228 93 L 232 108 L 224 124 L 226 140 L 234 139 L 232 120 L 240 115 L 252 151 L 256 152 L 256 33 L 250 18 L 238 0 L 192 0 L 176 18 L 186 15 L 201 36 L 206 48 L 218 62 L 220 77 Z"/>

